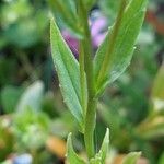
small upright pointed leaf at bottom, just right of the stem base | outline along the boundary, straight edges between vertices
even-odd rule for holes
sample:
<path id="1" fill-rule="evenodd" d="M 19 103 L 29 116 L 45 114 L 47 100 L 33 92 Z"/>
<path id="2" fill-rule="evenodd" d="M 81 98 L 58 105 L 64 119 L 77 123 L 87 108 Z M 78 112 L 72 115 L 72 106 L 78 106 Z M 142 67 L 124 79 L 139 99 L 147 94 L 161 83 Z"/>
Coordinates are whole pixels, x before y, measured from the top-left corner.
<path id="1" fill-rule="evenodd" d="M 105 164 L 105 159 L 109 145 L 109 129 L 107 128 L 99 152 L 94 159 L 91 159 L 90 164 Z"/>

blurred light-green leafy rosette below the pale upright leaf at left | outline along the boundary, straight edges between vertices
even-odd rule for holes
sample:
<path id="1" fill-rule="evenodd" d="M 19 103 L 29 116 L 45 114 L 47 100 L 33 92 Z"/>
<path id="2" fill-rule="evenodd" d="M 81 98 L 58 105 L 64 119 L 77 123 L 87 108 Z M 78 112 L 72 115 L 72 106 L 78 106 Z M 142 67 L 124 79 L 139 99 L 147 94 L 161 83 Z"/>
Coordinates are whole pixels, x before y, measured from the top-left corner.
<path id="1" fill-rule="evenodd" d="M 36 113 L 31 108 L 14 116 L 13 131 L 19 139 L 17 150 L 38 150 L 45 144 L 49 129 L 49 119 L 43 113 Z M 33 136 L 35 134 L 35 138 Z"/>

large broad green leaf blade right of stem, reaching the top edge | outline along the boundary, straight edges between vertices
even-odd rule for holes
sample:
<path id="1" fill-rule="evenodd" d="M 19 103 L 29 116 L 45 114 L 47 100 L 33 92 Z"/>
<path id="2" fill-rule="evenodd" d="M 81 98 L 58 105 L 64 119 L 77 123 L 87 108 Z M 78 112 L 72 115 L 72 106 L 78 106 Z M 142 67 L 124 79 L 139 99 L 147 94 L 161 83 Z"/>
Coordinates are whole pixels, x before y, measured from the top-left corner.
<path id="1" fill-rule="evenodd" d="M 112 39 L 114 26 L 109 30 L 104 43 L 98 48 L 94 59 L 95 81 L 97 86 L 97 94 L 101 94 L 108 83 L 114 82 L 129 66 L 134 49 L 134 43 L 143 23 L 145 7 L 148 0 L 131 0 L 124 12 L 119 32 L 115 38 L 113 51 L 109 54 L 109 70 L 108 77 L 104 77 L 103 83 L 99 82 L 98 77 L 103 66 L 106 51 L 108 50 L 108 43 Z M 104 72 L 106 74 L 106 72 Z"/>

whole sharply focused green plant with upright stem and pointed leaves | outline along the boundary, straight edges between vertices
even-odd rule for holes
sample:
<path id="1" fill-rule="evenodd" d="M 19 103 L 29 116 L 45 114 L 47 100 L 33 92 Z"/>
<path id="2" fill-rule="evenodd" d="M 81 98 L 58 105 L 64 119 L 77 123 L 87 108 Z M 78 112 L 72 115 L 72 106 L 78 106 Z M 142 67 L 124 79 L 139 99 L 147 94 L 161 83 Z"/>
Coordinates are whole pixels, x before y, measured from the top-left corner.
<path id="1" fill-rule="evenodd" d="M 68 137 L 67 159 L 70 164 L 104 164 L 108 152 L 107 129 L 99 152 L 94 148 L 96 106 L 106 86 L 114 82 L 129 66 L 134 43 L 140 32 L 148 0 L 121 0 L 114 25 L 108 30 L 94 59 L 89 26 L 89 11 L 95 0 L 71 1 L 69 5 L 56 0 L 51 3 L 69 30 L 79 37 L 79 62 L 63 40 L 55 21 L 50 23 L 50 42 L 54 63 L 58 73 L 66 105 L 79 122 L 84 136 L 89 161 L 85 162 L 73 150 L 71 134 Z M 73 3 L 73 5 L 72 5 Z M 71 8 L 73 7 L 73 8 Z M 72 23 L 72 20 L 74 23 Z M 129 154 L 124 164 L 133 164 L 140 153 Z"/>

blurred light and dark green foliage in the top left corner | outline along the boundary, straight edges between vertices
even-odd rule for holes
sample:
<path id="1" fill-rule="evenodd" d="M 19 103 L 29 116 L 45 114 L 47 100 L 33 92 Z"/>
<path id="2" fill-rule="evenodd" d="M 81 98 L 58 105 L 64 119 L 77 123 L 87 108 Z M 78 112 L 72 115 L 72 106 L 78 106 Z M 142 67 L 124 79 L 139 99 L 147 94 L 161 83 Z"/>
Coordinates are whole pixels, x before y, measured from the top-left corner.
<path id="1" fill-rule="evenodd" d="M 40 40 L 48 23 L 46 10 L 35 12 L 28 0 L 3 2 L 0 9 L 2 47 L 28 48 Z"/>

